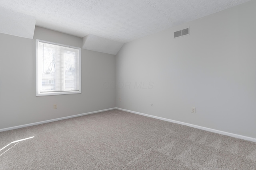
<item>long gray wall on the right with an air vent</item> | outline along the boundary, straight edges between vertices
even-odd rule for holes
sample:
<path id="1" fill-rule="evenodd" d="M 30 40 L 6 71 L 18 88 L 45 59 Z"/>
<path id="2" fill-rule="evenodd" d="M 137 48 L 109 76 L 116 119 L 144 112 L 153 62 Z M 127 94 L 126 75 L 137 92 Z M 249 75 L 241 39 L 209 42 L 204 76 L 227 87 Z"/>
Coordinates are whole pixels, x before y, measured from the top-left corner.
<path id="1" fill-rule="evenodd" d="M 256 138 L 255 16 L 253 0 L 125 44 L 116 106 Z"/>

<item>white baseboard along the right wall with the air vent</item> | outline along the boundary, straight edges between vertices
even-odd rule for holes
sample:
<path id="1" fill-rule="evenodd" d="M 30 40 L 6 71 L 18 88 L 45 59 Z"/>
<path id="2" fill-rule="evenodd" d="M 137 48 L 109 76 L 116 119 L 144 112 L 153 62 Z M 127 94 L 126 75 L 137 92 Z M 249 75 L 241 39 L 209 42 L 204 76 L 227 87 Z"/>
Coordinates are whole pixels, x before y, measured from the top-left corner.
<path id="1" fill-rule="evenodd" d="M 255 139 L 255 138 L 252 138 L 252 137 L 246 137 L 246 136 L 237 135 L 237 134 L 234 134 L 234 133 L 219 131 L 219 130 L 216 130 L 216 129 L 210 129 L 210 128 L 208 128 L 208 127 L 202 127 L 202 126 L 198 126 L 198 125 L 193 125 L 193 124 L 189 124 L 189 123 L 184 123 L 184 122 L 181 122 L 181 121 L 175 121 L 175 120 L 166 119 L 166 118 L 162 118 L 162 117 L 158 117 L 158 116 L 153 116 L 153 115 L 148 115 L 148 114 L 144 114 L 144 113 L 139 113 L 139 112 L 136 112 L 136 111 L 121 109 L 121 108 L 118 108 L 118 107 L 116 107 L 116 109 L 119 109 L 119 110 L 122 110 L 122 111 L 128 111 L 128 112 L 130 112 L 130 113 L 135 113 L 135 114 L 138 114 L 138 115 L 143 115 L 143 116 L 147 116 L 147 117 L 152 117 L 152 118 L 155 118 L 155 119 L 160 119 L 160 120 L 164 120 L 164 121 L 169 121 L 169 122 L 172 122 L 172 123 L 178 123 L 178 124 L 181 124 L 181 125 L 186 125 L 186 126 L 194 127 L 194 128 L 197 128 L 197 129 L 202 129 L 202 130 L 205 130 L 205 131 L 214 132 L 214 133 L 218 133 L 218 134 L 221 134 L 221 135 L 226 135 L 226 136 L 230 136 L 230 137 L 235 137 L 235 138 L 238 138 L 238 139 L 244 139 L 244 140 L 246 140 L 246 141 L 256 142 L 256 139 Z"/>

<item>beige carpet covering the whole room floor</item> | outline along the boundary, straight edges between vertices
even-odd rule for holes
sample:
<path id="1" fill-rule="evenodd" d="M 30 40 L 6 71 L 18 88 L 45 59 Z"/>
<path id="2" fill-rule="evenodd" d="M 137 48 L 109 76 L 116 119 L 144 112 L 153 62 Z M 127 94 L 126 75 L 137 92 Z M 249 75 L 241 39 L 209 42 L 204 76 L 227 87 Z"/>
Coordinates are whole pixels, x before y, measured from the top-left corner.
<path id="1" fill-rule="evenodd" d="M 1 132 L 0 149 L 0 170 L 256 169 L 256 143 L 116 109 Z"/>

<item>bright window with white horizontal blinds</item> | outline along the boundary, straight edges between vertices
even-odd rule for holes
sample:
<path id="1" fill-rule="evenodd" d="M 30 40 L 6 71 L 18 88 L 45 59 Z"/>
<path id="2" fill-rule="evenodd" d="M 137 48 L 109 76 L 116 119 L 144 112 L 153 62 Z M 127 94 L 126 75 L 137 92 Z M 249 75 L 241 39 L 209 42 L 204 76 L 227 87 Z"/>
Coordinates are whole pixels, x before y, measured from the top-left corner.
<path id="1" fill-rule="evenodd" d="M 36 96 L 81 93 L 81 48 L 36 39 Z"/>

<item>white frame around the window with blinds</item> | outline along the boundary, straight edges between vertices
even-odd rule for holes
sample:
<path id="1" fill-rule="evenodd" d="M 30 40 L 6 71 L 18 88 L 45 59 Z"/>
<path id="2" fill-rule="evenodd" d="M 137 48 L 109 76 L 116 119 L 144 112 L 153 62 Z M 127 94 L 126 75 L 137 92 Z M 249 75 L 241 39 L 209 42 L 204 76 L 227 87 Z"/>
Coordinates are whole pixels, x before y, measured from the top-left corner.
<path id="1" fill-rule="evenodd" d="M 78 91 L 71 91 L 71 92 L 39 92 L 39 75 L 38 75 L 38 71 L 39 71 L 39 66 L 38 66 L 38 43 L 42 42 L 42 43 L 48 43 L 48 44 L 53 44 L 53 45 L 59 45 L 59 46 L 63 46 L 63 47 L 69 47 L 69 48 L 73 48 L 73 49 L 78 49 L 79 50 L 79 90 Z M 82 93 L 82 86 L 81 86 L 81 48 L 80 47 L 74 47 L 71 45 L 64 45 L 64 44 L 60 44 L 60 43 L 54 43 L 54 42 L 50 42 L 50 41 L 44 41 L 44 40 L 40 40 L 40 39 L 36 39 L 36 96 L 52 96 L 52 95 L 63 95 L 63 94 L 81 94 Z"/>

